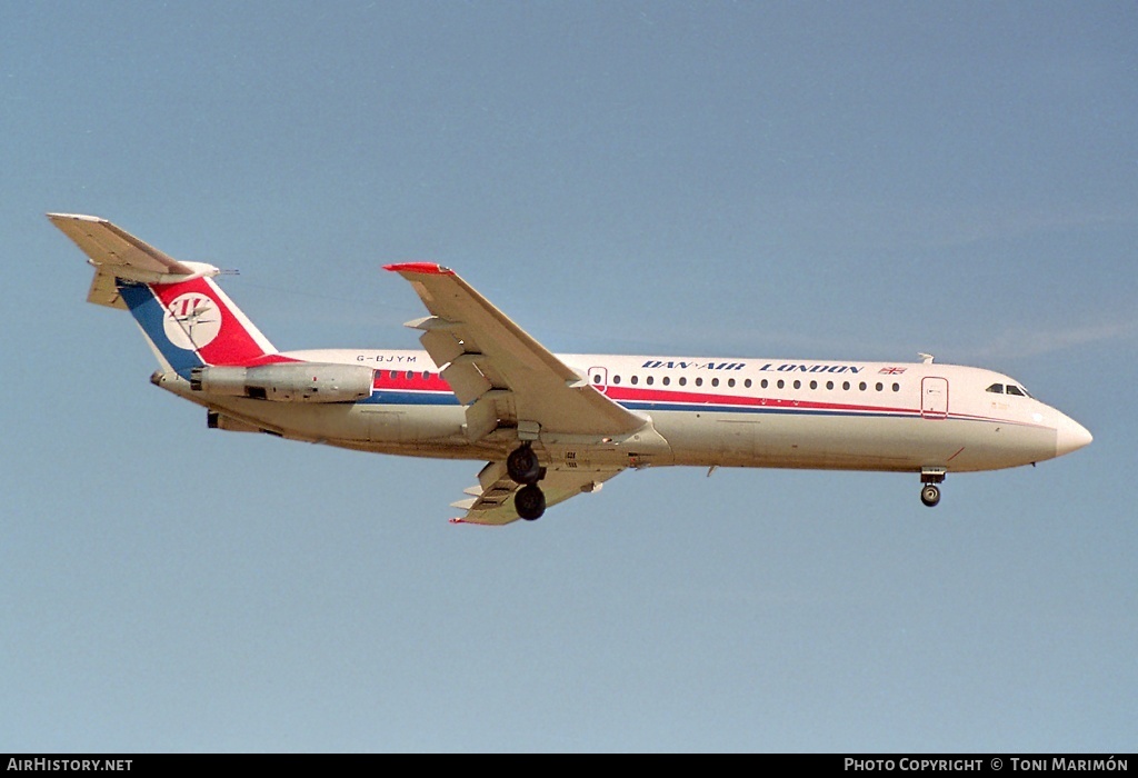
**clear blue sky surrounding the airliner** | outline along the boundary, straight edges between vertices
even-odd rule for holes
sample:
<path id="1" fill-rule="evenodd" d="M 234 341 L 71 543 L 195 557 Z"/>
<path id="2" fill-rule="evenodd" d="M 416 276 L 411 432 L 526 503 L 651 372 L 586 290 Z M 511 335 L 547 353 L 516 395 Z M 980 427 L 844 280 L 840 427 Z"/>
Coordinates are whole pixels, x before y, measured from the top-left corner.
<path id="1" fill-rule="evenodd" d="M 1136 52 L 1127 2 L 0 6 L 0 750 L 1133 751 Z M 282 349 L 415 347 L 427 259 L 554 350 L 931 351 L 1095 442 L 452 527 L 476 463 L 150 387 L 49 210 Z"/>

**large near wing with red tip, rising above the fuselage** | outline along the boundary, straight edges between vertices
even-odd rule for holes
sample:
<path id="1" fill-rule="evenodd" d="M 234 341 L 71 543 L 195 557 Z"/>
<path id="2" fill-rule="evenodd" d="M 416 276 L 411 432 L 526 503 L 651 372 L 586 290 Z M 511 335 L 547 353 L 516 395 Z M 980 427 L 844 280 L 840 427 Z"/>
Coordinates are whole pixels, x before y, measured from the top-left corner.
<path id="1" fill-rule="evenodd" d="M 480 440 L 498 427 L 519 438 L 537 432 L 616 436 L 645 420 L 599 392 L 514 324 L 454 271 L 428 263 L 387 265 L 411 282 L 431 313 L 407 322 L 467 408 L 467 431 Z"/>

